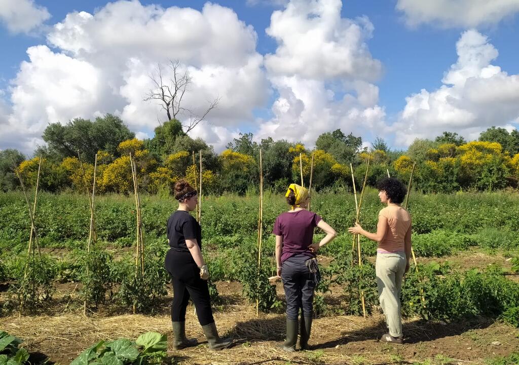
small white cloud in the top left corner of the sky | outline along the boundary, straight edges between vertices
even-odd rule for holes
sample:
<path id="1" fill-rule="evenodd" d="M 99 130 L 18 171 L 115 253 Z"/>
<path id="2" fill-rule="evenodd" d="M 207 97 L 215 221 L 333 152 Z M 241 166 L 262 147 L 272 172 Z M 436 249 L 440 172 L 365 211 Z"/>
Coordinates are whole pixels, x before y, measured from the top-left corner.
<path id="1" fill-rule="evenodd" d="M 33 0 L 0 0 L 0 22 L 11 33 L 28 33 L 49 18 L 47 8 Z"/>

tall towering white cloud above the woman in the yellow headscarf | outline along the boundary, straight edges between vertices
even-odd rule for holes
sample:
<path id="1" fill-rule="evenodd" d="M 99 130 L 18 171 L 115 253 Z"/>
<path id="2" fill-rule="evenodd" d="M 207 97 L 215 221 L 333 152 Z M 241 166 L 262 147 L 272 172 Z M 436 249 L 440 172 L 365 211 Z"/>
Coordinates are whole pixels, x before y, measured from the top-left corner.
<path id="1" fill-rule="evenodd" d="M 365 137 L 384 126 L 373 84 L 382 67 L 366 44 L 373 24 L 342 18 L 341 8 L 339 0 L 303 0 L 272 13 L 267 34 L 278 47 L 265 65 L 278 98 L 258 140 L 275 136 L 312 145 L 337 128 Z"/>

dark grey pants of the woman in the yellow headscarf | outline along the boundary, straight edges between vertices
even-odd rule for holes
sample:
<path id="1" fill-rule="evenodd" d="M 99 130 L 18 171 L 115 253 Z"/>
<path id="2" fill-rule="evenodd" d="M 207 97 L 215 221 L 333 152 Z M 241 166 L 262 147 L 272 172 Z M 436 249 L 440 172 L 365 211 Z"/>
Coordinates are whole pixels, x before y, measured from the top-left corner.
<path id="1" fill-rule="evenodd" d="M 303 257 L 302 257 L 303 256 Z M 286 298 L 286 318 L 297 320 L 299 308 L 303 310 L 303 316 L 313 316 L 313 274 L 305 264 L 308 256 L 297 255 L 283 261 L 281 279 Z"/>

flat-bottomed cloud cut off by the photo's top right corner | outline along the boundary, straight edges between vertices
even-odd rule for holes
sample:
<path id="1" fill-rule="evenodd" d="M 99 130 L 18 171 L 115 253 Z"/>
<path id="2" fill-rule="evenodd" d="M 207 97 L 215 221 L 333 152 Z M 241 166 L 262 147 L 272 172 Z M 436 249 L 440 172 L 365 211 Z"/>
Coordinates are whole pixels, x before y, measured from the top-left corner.
<path id="1" fill-rule="evenodd" d="M 443 27 L 472 28 L 493 25 L 519 11 L 517 0 L 398 0 L 410 26 L 433 23 Z"/>

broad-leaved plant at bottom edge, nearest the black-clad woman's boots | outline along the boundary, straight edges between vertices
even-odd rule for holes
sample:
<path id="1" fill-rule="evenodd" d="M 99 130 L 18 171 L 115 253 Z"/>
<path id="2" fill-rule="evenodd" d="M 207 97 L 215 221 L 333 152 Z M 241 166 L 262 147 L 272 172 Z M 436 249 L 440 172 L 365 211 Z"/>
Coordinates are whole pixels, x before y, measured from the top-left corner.
<path id="1" fill-rule="evenodd" d="M 87 348 L 71 365 L 160 364 L 167 356 L 167 336 L 146 332 L 133 342 L 128 339 L 100 341 Z"/>

